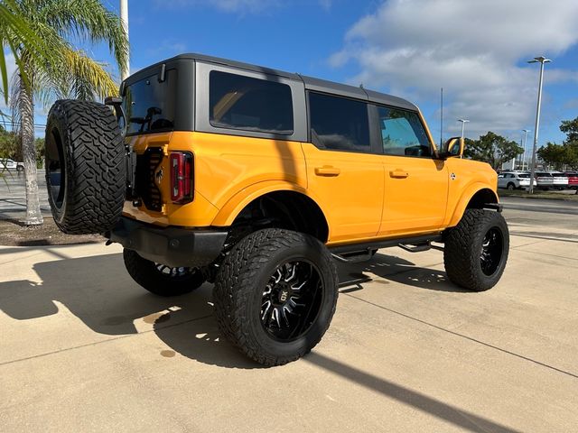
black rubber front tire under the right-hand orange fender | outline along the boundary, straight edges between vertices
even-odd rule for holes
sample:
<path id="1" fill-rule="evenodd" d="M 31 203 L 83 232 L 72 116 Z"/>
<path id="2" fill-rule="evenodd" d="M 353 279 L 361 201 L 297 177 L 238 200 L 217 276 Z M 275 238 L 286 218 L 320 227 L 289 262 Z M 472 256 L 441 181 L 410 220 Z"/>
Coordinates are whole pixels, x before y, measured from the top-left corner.
<path id="1" fill-rule="evenodd" d="M 482 253 L 487 235 L 499 237 L 495 245 L 496 261 L 484 272 Z M 443 263 L 448 278 L 464 289 L 484 291 L 499 281 L 508 261 L 509 233 L 506 220 L 499 212 L 467 209 L 460 223 L 449 230 L 443 248 Z M 495 269 L 494 269 L 495 268 Z M 487 270 L 488 271 L 488 270 Z"/>

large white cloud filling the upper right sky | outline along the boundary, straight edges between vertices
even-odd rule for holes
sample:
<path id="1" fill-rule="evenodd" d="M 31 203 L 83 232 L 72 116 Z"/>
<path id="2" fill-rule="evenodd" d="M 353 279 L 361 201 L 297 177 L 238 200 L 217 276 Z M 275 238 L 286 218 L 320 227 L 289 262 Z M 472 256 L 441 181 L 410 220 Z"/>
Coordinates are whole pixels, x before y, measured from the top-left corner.
<path id="1" fill-rule="evenodd" d="M 471 133 L 507 131 L 534 116 L 538 67 L 524 60 L 577 41 L 575 0 L 389 0 L 351 27 L 330 62 L 354 60 L 352 83 L 401 96 L 432 100 L 443 87 L 447 118 L 471 119 Z M 576 77 L 546 66 L 546 85 Z"/>

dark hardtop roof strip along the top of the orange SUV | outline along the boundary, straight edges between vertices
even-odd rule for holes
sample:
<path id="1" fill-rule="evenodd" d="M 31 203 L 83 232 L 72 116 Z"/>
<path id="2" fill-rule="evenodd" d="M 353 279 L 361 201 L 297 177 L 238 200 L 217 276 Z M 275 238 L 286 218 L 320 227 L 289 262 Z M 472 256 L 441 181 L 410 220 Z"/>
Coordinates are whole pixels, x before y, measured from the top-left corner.
<path id="1" fill-rule="evenodd" d="M 163 63 L 172 60 L 207 61 L 210 63 L 224 65 L 232 68 L 246 69 L 254 72 L 260 72 L 269 75 L 276 75 L 278 77 L 294 79 L 296 81 L 302 81 L 306 89 L 313 91 L 330 93 L 332 95 L 340 95 L 342 97 L 353 97 L 357 99 L 364 99 L 370 102 L 374 102 L 376 104 L 383 104 L 386 106 L 398 106 L 401 108 L 406 108 L 408 110 L 416 111 L 418 109 L 417 106 L 407 101 L 406 99 L 403 99 L 401 97 L 393 97 L 391 95 L 386 95 L 385 93 L 376 92 L 374 90 L 368 90 L 366 88 L 361 87 L 356 88 L 355 86 L 348 86 L 346 84 L 340 84 L 325 79 L 307 77 L 297 73 L 285 72 L 284 70 L 265 68 L 262 66 L 251 65 L 249 63 L 243 63 L 241 61 L 221 59 L 219 57 L 207 56 L 204 54 L 197 54 L 197 53 L 179 54 L 178 56 L 172 57 L 171 59 L 159 61 L 158 63 L 155 63 L 154 65 L 151 65 L 150 67 L 142 70 L 145 71 L 146 69 L 154 69 L 155 67 L 158 68 Z M 135 74 L 141 75 L 140 72 L 141 71 L 139 70 Z M 130 78 L 127 79 L 129 81 L 132 81 Z"/>

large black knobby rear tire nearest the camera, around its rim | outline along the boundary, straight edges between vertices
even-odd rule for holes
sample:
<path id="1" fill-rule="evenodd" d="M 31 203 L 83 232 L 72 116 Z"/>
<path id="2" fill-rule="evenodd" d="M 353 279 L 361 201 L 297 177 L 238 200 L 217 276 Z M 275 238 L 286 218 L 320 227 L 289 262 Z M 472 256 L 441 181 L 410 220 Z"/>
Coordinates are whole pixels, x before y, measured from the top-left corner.
<path id="1" fill-rule="evenodd" d="M 321 298 L 303 334 L 282 341 L 262 323 L 264 290 L 270 287 L 267 281 L 275 270 L 300 261 L 318 272 L 320 282 L 313 298 L 322 290 Z M 220 266 L 213 291 L 220 332 L 242 353 L 266 366 L 286 364 L 309 353 L 331 323 L 337 296 L 337 271 L 327 248 L 310 235 L 276 228 L 259 230 L 236 244 Z M 309 307 L 307 315 L 311 312 Z"/>

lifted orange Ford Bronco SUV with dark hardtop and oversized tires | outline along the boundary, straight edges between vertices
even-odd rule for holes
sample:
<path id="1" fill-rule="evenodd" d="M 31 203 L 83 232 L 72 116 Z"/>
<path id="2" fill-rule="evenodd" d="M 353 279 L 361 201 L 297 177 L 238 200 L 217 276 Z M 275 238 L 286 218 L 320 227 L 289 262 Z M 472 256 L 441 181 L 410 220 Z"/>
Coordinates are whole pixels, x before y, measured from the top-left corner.
<path id="1" fill-rule="evenodd" d="M 128 273 L 157 295 L 214 282 L 220 331 L 258 363 L 285 364 L 321 340 L 336 260 L 435 242 L 466 290 L 504 271 L 497 174 L 461 159 L 460 138 L 436 148 L 404 99 L 184 54 L 105 102 L 51 108 L 54 220 L 122 244 Z"/>

